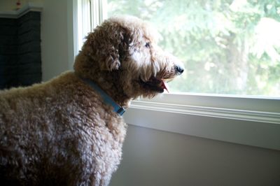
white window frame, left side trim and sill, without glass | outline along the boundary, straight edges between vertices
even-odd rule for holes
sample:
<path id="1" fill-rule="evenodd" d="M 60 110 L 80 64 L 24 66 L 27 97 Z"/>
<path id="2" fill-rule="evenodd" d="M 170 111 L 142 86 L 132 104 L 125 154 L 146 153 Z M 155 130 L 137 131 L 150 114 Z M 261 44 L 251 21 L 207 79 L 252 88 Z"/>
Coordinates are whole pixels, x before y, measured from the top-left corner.
<path id="1" fill-rule="evenodd" d="M 88 31 L 89 24 L 87 17 L 80 16 L 79 13 L 88 15 L 88 8 L 94 10 L 91 12 L 93 17 L 90 24 L 95 27 L 106 17 L 106 1 L 73 2 L 73 9 L 76 8 L 76 13 L 75 10 L 73 13 L 74 30 L 76 29 L 74 54 L 77 55 L 79 42 L 83 41 L 81 35 L 86 34 L 85 30 Z M 162 94 L 151 100 L 132 101 L 124 117 L 128 124 L 139 127 L 280 150 L 280 98 Z"/>

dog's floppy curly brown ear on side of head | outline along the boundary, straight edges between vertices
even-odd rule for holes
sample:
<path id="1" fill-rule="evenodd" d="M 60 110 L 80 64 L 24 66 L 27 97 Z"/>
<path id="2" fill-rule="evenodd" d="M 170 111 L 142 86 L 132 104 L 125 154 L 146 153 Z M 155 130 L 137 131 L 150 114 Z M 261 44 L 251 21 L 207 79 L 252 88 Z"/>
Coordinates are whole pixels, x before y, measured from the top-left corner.
<path id="1" fill-rule="evenodd" d="M 127 54 L 130 31 L 118 23 L 105 21 L 87 36 L 90 55 L 103 71 L 120 69 L 121 61 Z"/>

